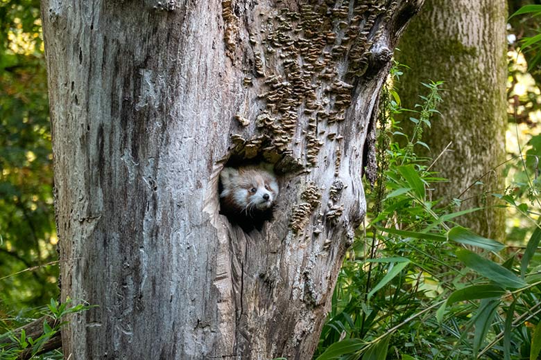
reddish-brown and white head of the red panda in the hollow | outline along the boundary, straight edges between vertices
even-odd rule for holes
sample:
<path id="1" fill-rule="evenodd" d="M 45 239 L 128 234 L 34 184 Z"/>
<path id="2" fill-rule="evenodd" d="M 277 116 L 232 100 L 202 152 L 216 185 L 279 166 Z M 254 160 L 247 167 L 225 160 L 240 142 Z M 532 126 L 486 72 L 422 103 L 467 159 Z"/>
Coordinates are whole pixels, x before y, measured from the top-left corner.
<path id="1" fill-rule="evenodd" d="M 279 189 L 273 174 L 255 167 L 225 168 L 221 173 L 223 190 L 220 197 L 227 198 L 241 213 L 266 210 L 275 203 Z"/>

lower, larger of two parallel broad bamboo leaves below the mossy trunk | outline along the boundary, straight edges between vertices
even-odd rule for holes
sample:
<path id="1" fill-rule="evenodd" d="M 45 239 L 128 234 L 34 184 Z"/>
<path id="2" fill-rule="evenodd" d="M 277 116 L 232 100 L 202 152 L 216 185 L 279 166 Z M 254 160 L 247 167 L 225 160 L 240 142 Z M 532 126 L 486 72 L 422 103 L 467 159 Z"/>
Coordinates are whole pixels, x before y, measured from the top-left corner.
<path id="1" fill-rule="evenodd" d="M 456 256 L 467 267 L 476 271 L 477 273 L 495 281 L 501 287 L 505 289 L 517 289 L 519 287 L 526 286 L 526 282 L 517 277 L 513 272 L 502 267 L 495 262 L 482 258 L 472 251 L 461 249 L 456 251 Z"/>

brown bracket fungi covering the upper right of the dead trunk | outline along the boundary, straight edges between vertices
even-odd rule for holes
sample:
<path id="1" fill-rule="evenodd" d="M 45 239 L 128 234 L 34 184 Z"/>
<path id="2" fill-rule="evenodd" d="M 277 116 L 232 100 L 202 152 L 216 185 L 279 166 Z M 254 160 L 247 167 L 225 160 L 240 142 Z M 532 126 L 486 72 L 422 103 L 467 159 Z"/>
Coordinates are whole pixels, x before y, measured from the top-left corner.
<path id="1" fill-rule="evenodd" d="M 234 46 L 232 33 L 239 30 L 231 1 L 223 0 L 225 42 L 229 47 Z M 354 101 L 359 80 L 369 76 L 370 66 L 381 65 L 376 64 L 372 52 L 383 36 L 381 22 L 388 21 L 396 8 L 397 1 L 387 0 L 310 0 L 298 8 L 277 1 L 276 10 L 246 17 L 254 21 L 247 28 L 259 32 L 248 33 L 252 69 L 243 84 L 257 83 L 257 89 L 263 89 L 258 98 L 264 100 L 264 109 L 255 123 L 269 143 L 263 146 L 259 137 L 247 141 L 239 135 L 233 136 L 234 143 L 246 145 L 242 151 L 247 156 L 257 148 L 287 156 L 290 162 L 309 169 L 321 160 L 320 151 L 327 138 L 326 156 L 332 156 L 338 179 L 346 110 Z M 379 53 L 388 60 L 390 53 L 385 50 Z M 242 117 L 237 120 L 242 125 L 250 123 Z M 292 149 L 296 150 L 294 158 Z M 307 194 L 314 191 L 317 197 L 308 201 Z M 302 193 L 304 201 L 293 208 L 291 216 L 295 233 L 304 228 L 320 197 L 313 185 Z M 325 218 L 334 222 L 342 215 L 343 206 L 338 199 L 332 203 Z"/>

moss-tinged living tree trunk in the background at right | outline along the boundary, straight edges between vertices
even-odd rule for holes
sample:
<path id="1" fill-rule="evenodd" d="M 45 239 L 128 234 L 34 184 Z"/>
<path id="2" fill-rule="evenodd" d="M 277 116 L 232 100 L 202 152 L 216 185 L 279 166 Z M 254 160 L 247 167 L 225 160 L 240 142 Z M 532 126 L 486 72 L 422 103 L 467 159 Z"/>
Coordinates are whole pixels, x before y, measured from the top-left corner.
<path id="1" fill-rule="evenodd" d="M 505 159 L 506 16 L 505 0 L 428 0 L 397 53 L 411 67 L 399 84 L 405 107 L 413 109 L 421 101 L 418 96 L 426 88 L 420 82 L 445 81 L 438 105 L 442 116 L 423 134 L 433 159 L 452 142 L 434 167 L 449 179 L 436 186 L 435 197 L 466 200 L 462 208 L 486 206 L 460 222 L 499 240 L 505 234 L 505 213 L 492 207 L 497 199 L 490 193 L 505 187 L 503 169 L 496 167 Z M 472 186 L 478 180 L 484 185 Z"/>

